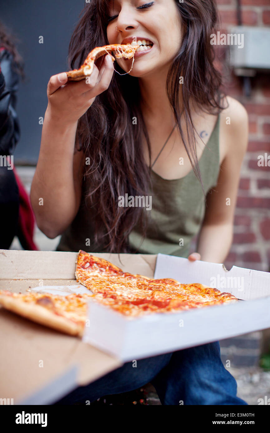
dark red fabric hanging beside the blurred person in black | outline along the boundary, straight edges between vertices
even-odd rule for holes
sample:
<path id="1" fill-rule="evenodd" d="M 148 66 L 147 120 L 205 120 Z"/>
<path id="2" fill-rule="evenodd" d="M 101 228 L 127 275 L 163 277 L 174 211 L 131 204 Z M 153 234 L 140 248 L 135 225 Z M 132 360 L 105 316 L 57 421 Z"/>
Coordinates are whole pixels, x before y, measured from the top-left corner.
<path id="1" fill-rule="evenodd" d="M 38 251 L 39 249 L 36 246 L 35 242 L 33 241 L 35 216 L 30 204 L 30 200 L 15 168 L 13 168 L 13 172 L 19 188 L 19 196 L 20 196 L 17 236 L 19 238 L 21 246 L 24 249 L 30 251 Z"/>

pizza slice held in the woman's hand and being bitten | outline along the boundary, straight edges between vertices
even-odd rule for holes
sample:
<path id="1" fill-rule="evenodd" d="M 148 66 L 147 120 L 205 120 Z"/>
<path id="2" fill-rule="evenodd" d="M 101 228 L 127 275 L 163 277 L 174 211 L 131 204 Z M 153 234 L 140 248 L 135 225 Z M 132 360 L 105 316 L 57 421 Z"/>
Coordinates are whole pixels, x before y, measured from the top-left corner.
<path id="1" fill-rule="evenodd" d="M 134 57 L 134 54 L 139 48 L 139 45 L 104 45 L 104 47 L 96 47 L 94 48 L 85 59 L 84 63 L 81 65 L 81 68 L 74 69 L 73 71 L 68 71 L 67 76 L 69 81 L 80 81 L 85 77 L 88 77 L 92 74 L 94 68 L 94 62 L 105 54 L 110 54 L 110 52 L 115 52 L 116 58 L 127 58 L 131 59 Z M 111 54 L 110 54 L 111 55 Z M 111 55 L 112 60 L 115 58 Z"/>

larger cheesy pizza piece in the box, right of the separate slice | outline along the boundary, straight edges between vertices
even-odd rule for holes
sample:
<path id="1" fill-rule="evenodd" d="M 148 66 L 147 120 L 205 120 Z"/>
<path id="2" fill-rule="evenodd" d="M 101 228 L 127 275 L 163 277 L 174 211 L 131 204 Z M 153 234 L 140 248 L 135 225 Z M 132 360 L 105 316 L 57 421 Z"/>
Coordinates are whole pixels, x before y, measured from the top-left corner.
<path id="1" fill-rule="evenodd" d="M 94 293 L 94 301 L 132 317 L 237 301 L 230 293 L 202 284 L 180 284 L 172 278 L 153 279 L 123 272 L 86 252 L 78 254 L 75 275 Z"/>

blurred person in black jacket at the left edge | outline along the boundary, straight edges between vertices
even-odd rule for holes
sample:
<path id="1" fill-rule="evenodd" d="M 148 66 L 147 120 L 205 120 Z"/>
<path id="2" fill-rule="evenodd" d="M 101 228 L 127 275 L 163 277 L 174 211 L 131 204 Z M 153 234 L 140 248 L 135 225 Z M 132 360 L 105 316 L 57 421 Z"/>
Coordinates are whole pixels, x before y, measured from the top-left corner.
<path id="1" fill-rule="evenodd" d="M 23 59 L 0 22 L 0 248 L 9 249 L 18 236 L 24 249 L 36 250 L 33 211 L 13 168 L 13 152 L 20 139 L 16 113 L 20 77 L 24 78 Z"/>

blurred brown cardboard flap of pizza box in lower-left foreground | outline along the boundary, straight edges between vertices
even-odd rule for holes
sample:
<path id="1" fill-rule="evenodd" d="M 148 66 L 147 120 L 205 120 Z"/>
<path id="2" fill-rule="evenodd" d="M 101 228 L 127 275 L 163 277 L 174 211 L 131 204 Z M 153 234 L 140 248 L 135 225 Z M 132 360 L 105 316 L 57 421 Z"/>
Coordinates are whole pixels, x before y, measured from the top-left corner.
<path id="1" fill-rule="evenodd" d="M 14 404 L 31 397 L 74 367 L 76 374 L 67 392 L 76 384 L 86 385 L 121 365 L 115 357 L 76 337 L 46 328 L 3 308 L 0 309 L 0 329 L 0 397 L 13 398 Z M 48 396 L 51 401 L 45 398 L 42 404 L 51 403 L 54 395 L 57 400 L 65 394 L 65 388 L 60 395 L 57 391 L 52 390 Z"/>

